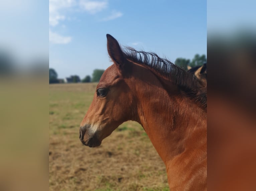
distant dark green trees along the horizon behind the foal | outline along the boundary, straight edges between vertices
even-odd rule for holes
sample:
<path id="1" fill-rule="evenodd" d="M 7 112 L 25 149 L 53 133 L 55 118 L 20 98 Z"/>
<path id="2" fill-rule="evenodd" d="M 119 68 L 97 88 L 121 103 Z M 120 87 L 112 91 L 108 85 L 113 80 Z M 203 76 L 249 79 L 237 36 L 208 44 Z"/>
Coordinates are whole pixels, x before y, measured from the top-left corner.
<path id="1" fill-rule="evenodd" d="M 200 56 L 199 54 L 196 54 L 195 57 L 192 59 L 192 61 L 190 61 L 189 59 L 185 59 L 185 58 L 177 58 L 175 60 L 174 64 L 179 66 L 180 68 L 183 68 L 184 70 L 187 70 L 188 66 L 193 68 L 196 66 L 202 66 L 206 62 L 207 62 L 207 58 L 205 55 Z M 92 77 L 90 75 L 87 75 L 82 80 L 80 80 L 80 77 L 77 75 L 71 76 L 66 79 L 69 79 L 69 82 L 72 82 L 72 83 L 99 82 L 104 71 L 105 70 L 102 70 L 102 69 L 95 69 L 93 71 Z M 50 68 L 49 69 L 49 84 L 53 84 L 53 83 L 64 83 L 64 80 L 58 79 L 57 72 L 54 69 Z"/>

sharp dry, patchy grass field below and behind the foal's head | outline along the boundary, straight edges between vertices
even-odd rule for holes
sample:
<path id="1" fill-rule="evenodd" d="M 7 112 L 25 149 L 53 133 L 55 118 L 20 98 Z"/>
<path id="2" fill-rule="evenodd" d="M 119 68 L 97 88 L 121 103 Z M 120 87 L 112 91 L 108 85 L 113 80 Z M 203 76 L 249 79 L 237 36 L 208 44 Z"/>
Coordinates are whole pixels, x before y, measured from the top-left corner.
<path id="1" fill-rule="evenodd" d="M 79 126 L 96 86 L 49 86 L 49 190 L 169 190 L 164 163 L 140 124 L 123 123 L 99 147 L 82 145 Z"/>

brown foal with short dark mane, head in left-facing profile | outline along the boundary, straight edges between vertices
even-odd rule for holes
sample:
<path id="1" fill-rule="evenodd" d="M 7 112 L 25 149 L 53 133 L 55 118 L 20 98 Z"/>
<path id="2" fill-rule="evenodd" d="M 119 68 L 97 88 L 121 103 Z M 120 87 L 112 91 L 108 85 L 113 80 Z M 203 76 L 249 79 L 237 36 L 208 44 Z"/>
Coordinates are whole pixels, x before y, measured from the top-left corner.
<path id="1" fill-rule="evenodd" d="M 99 146 L 120 124 L 139 122 L 166 165 L 171 190 L 206 190 L 206 94 L 193 75 L 154 53 L 126 48 L 107 34 L 114 64 L 102 75 L 80 127 Z"/>

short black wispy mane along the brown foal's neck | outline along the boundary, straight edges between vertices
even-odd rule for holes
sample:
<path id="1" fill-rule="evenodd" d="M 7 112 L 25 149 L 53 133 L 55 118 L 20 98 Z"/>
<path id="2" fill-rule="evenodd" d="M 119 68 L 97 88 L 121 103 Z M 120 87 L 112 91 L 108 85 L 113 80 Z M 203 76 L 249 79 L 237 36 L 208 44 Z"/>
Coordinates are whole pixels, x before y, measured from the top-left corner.
<path id="1" fill-rule="evenodd" d="M 193 73 L 186 72 L 166 58 L 160 58 L 154 52 L 137 51 L 131 47 L 125 47 L 123 53 L 126 59 L 143 65 L 160 77 L 172 82 L 185 95 L 199 103 L 199 106 L 206 110 L 206 94 L 201 94 Z"/>

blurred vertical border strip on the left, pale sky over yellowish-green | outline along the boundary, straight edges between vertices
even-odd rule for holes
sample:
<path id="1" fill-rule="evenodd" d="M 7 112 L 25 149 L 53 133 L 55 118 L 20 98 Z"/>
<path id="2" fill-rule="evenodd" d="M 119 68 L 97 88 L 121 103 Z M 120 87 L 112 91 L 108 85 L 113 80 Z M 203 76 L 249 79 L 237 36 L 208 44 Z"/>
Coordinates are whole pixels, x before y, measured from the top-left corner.
<path id="1" fill-rule="evenodd" d="M 48 189 L 48 10 L 0 2 L 0 190 Z"/>

